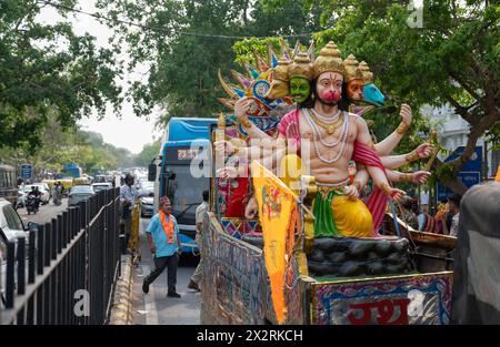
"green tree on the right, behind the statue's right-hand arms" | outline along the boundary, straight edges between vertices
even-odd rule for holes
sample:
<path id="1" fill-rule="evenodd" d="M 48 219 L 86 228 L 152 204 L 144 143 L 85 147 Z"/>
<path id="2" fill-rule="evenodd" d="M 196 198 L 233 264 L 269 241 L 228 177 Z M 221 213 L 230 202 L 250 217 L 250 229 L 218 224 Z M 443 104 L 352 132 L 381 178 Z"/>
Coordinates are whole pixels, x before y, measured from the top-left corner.
<path id="1" fill-rule="evenodd" d="M 267 0 L 273 10 L 283 0 Z M 314 1 L 303 7 L 306 12 Z M 457 193 L 466 187 L 457 173 L 483 135 L 498 146 L 500 99 L 500 4 L 487 0 L 424 0 L 422 27 L 409 25 L 409 1 L 320 0 L 322 24 L 334 23 L 314 38 L 318 48 L 333 40 L 344 54 L 366 60 L 389 102 L 450 104 L 470 124 L 463 154 L 450 163 L 436 161 L 434 174 Z M 417 123 L 422 124 L 417 114 Z M 386 118 L 386 122 L 391 122 Z M 426 124 L 422 124 L 426 125 Z M 391 126 L 386 126 L 391 127 Z M 426 129 L 427 127 L 427 129 Z M 428 125 L 413 126 L 428 132 Z"/>

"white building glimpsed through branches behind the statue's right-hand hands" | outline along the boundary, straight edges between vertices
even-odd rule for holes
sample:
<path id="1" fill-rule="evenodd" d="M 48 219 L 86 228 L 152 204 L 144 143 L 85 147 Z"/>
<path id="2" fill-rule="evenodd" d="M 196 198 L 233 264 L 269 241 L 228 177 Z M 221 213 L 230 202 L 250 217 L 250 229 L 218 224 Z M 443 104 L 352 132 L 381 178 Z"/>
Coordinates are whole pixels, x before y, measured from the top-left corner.
<path id="1" fill-rule="evenodd" d="M 469 134 L 469 123 L 457 114 L 452 106 L 432 108 L 429 105 L 420 109 L 423 116 L 429 118 L 431 123 L 439 123 L 437 126 L 440 144 L 449 150 L 454 151 L 458 146 L 464 146 Z M 484 153 L 484 139 L 480 137 L 477 143 L 482 146 L 483 153 L 483 177 L 494 177 L 498 166 L 500 165 L 500 150 L 492 151 L 491 144 L 488 144 Z M 484 154 L 488 165 L 484 165 Z M 439 156 L 443 160 L 442 156 Z M 486 172 L 486 169 L 487 172 Z"/>

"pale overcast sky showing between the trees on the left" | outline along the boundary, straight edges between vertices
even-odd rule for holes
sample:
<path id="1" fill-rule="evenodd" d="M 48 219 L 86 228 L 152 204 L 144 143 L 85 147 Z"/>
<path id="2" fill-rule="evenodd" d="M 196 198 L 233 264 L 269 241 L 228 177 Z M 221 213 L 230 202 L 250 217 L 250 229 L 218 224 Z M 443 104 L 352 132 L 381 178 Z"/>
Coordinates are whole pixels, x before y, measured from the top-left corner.
<path id="1" fill-rule="evenodd" d="M 96 12 L 96 8 L 93 7 L 94 2 L 94 0 L 80 0 L 79 9 L 86 12 Z M 108 47 L 108 39 L 112 34 L 108 27 L 100 24 L 94 18 L 81 13 L 74 13 L 69 18 L 72 19 L 71 21 L 77 34 L 88 32 L 97 38 L 99 45 Z M 53 8 L 47 7 L 42 10 L 38 19 L 43 22 L 53 23 L 60 17 Z M 127 74 L 124 79 L 147 79 L 147 75 L 140 73 L 147 71 L 147 68 L 143 67 L 141 70 L 136 71 L 132 75 Z M 120 84 L 123 88 L 126 86 L 124 81 Z M 158 114 L 152 114 L 149 121 L 144 118 L 138 118 L 133 114 L 132 105 L 127 102 L 123 103 L 121 114 L 120 120 L 109 109 L 103 120 L 98 121 L 96 114 L 92 114 L 80 121 L 79 124 L 83 130 L 102 134 L 104 142 L 118 147 L 124 147 L 132 153 L 139 153 L 144 144 L 151 143 L 153 137 L 160 135 L 160 132 L 153 131 L 154 120 Z"/>

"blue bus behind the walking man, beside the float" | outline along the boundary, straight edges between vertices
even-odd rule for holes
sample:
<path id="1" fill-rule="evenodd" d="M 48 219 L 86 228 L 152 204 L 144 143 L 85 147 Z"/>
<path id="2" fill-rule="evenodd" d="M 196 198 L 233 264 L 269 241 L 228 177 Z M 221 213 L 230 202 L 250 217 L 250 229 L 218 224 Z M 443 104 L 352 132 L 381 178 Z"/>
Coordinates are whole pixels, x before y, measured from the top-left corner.
<path id="1" fill-rule="evenodd" d="M 149 166 L 149 180 L 154 180 L 154 213 L 159 197 L 168 196 L 184 253 L 198 253 L 196 210 L 203 191 L 210 191 L 210 130 L 216 124 L 217 119 L 170 119 L 160 153 Z"/>

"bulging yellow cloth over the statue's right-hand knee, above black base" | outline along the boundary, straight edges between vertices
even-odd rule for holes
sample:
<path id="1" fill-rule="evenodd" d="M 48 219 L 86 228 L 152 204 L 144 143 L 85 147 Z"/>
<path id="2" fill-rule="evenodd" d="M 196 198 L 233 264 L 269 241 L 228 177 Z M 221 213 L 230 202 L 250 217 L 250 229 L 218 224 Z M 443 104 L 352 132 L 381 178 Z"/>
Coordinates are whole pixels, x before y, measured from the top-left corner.
<path id="1" fill-rule="evenodd" d="M 331 202 L 333 218 L 346 237 L 372 237 L 373 218 L 367 205 L 359 198 L 336 196 Z"/>

